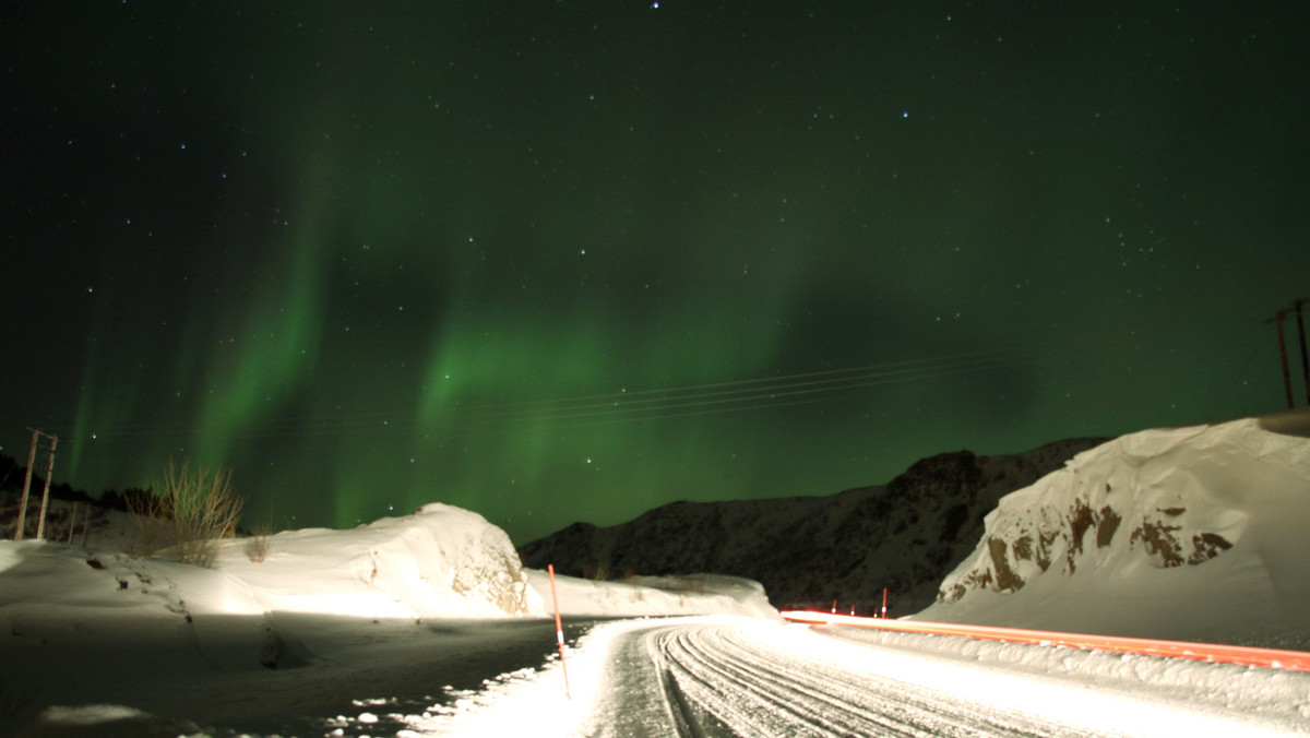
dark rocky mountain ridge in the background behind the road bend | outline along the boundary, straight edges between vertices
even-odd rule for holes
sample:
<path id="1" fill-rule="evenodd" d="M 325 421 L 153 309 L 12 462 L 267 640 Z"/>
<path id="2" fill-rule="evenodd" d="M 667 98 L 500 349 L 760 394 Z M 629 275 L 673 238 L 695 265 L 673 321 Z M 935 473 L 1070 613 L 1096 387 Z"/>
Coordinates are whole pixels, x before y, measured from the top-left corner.
<path id="1" fill-rule="evenodd" d="M 942 578 L 973 551 L 1001 497 L 1056 471 L 1103 439 L 1024 454 L 968 451 L 924 459 L 883 486 L 829 497 L 675 502 L 600 528 L 575 523 L 519 549 L 525 566 L 576 577 L 714 573 L 764 585 L 778 608 L 892 615 L 933 602 Z"/>

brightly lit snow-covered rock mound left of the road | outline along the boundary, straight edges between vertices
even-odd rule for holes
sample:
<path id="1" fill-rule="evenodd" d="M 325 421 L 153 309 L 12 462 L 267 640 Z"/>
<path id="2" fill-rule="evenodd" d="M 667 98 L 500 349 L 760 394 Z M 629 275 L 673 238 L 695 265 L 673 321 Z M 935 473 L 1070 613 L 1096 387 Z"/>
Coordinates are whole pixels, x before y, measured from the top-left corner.
<path id="1" fill-rule="evenodd" d="M 303 666 L 286 613 L 422 620 L 544 617 L 510 537 L 481 515 L 427 505 L 348 531 L 224 541 L 214 568 L 45 541 L 0 541 L 5 646 L 183 648 L 206 667 Z M 141 646 L 147 648 L 147 646 Z"/>

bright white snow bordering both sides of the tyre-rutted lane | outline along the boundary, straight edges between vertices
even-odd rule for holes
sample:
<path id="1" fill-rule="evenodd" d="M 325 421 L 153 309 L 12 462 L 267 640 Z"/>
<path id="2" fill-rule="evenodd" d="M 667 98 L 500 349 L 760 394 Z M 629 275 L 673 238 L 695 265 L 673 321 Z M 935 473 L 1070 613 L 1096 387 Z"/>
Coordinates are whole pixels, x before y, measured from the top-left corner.
<path id="1" fill-rule="evenodd" d="M 1310 734 L 1310 675 L 1221 663 L 1117 655 L 845 627 L 781 624 L 738 616 L 659 621 L 731 628 L 773 651 L 819 670 L 884 676 L 930 692 L 984 701 L 1055 722 L 1079 734 L 1154 738 Z M 655 625 L 622 620 L 595 628 L 563 669 L 506 675 L 452 708 L 401 720 L 411 735 L 591 734 L 614 642 Z M 852 649 L 850 644 L 862 648 Z M 943 733 L 945 734 L 945 733 Z"/>

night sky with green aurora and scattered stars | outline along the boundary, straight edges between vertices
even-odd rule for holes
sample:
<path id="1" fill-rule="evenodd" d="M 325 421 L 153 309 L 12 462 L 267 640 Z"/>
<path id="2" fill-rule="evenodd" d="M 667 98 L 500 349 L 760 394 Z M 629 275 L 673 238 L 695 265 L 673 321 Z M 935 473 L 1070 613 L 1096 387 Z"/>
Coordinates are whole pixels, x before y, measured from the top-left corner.
<path id="1" fill-rule="evenodd" d="M 1310 7 L 1212 5 L 5 3 L 0 452 L 521 544 L 1277 410 Z"/>

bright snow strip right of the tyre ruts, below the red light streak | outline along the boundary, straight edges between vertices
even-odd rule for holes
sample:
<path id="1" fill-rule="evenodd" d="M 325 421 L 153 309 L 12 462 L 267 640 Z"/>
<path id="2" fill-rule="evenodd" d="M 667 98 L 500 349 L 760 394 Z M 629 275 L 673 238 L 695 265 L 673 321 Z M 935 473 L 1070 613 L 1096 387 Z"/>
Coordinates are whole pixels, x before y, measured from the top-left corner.
<path id="1" fill-rule="evenodd" d="M 1306 674 L 848 627 L 811 636 L 795 645 L 812 658 L 859 659 L 854 666 L 998 709 L 1073 718 L 1089 731 L 1286 735 L 1305 734 L 1310 721 Z M 876 658 L 842 642 L 872 646 Z"/>

